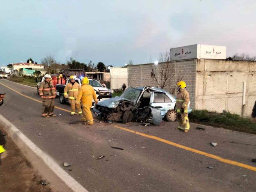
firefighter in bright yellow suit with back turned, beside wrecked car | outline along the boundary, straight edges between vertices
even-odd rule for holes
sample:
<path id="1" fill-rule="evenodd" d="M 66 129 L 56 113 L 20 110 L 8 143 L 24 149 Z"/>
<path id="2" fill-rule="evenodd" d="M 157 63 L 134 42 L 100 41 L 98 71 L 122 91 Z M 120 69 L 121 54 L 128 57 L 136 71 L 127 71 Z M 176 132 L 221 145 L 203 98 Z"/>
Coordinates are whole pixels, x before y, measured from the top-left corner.
<path id="1" fill-rule="evenodd" d="M 93 118 L 92 118 L 92 112 L 91 112 L 92 99 L 94 99 L 95 104 L 98 104 L 98 99 L 93 87 L 89 85 L 89 80 L 87 77 L 83 78 L 82 84 L 83 85 L 80 88 L 77 95 L 76 104 L 80 104 L 81 102 L 81 105 L 83 107 L 83 117 L 81 118 L 81 120 L 87 125 L 92 125 L 93 124 Z"/>

